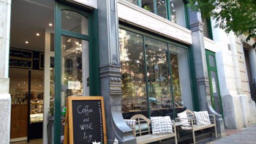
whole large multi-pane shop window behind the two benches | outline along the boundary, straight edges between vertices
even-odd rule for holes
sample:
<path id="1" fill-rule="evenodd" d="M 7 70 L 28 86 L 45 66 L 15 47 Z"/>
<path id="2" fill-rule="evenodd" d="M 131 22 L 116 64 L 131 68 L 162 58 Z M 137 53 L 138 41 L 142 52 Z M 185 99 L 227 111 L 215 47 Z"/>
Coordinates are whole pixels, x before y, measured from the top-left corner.
<path id="1" fill-rule="evenodd" d="M 119 42 L 124 118 L 193 110 L 187 49 L 124 29 Z"/>

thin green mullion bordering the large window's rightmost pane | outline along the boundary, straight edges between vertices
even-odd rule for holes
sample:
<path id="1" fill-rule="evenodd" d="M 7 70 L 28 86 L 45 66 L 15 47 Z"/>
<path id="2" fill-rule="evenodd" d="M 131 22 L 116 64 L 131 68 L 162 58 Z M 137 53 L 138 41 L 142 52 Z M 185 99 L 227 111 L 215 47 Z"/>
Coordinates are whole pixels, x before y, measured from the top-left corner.
<path id="1" fill-rule="evenodd" d="M 173 95 L 173 76 L 172 76 L 172 67 L 171 67 L 171 64 L 170 64 L 170 50 L 169 50 L 169 45 L 170 44 L 167 44 L 167 63 L 168 63 L 168 66 L 169 66 L 169 72 L 170 72 L 170 93 L 172 95 L 172 102 L 173 102 L 173 118 L 176 118 L 176 108 L 175 108 L 175 98 L 174 98 L 174 95 Z"/>

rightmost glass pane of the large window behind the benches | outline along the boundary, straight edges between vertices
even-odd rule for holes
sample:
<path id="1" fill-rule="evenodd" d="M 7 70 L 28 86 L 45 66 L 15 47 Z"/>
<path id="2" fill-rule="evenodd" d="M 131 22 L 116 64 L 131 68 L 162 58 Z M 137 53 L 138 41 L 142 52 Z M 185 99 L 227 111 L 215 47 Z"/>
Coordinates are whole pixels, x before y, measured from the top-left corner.
<path id="1" fill-rule="evenodd" d="M 169 50 L 176 110 L 184 107 L 193 110 L 187 50 L 170 44 Z"/>

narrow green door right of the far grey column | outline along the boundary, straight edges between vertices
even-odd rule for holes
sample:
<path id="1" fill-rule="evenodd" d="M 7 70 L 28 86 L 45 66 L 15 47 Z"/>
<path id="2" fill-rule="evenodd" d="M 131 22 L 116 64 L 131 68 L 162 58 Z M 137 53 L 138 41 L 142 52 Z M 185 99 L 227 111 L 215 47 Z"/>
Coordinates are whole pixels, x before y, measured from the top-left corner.
<path id="1" fill-rule="evenodd" d="M 211 88 L 211 104 L 214 107 L 214 110 L 222 114 L 222 97 L 220 96 L 219 92 L 219 80 L 217 74 L 217 64 L 215 59 L 215 53 L 206 50 L 206 60 L 207 60 L 207 67 L 208 67 L 208 77 L 209 83 Z"/>

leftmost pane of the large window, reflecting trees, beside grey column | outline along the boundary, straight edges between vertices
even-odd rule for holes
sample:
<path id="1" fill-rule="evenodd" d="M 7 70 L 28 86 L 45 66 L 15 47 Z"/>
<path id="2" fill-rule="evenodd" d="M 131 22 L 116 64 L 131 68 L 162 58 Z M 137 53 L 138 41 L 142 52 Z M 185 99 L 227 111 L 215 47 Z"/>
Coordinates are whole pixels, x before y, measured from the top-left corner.
<path id="1" fill-rule="evenodd" d="M 143 37 L 119 29 L 122 111 L 147 113 Z"/>

